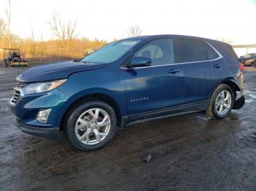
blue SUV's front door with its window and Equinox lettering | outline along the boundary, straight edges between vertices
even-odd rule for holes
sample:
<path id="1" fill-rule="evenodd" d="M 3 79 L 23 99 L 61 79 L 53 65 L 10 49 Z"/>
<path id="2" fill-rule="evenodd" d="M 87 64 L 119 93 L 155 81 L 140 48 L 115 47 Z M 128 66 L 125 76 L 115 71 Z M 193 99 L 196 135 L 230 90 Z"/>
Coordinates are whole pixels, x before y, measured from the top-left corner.
<path id="1" fill-rule="evenodd" d="M 125 69 L 129 116 L 165 108 L 167 65 L 174 63 L 173 39 L 156 39 L 140 48 L 133 57 L 151 58 L 151 66 Z M 174 96 L 175 97 L 175 96 Z"/>

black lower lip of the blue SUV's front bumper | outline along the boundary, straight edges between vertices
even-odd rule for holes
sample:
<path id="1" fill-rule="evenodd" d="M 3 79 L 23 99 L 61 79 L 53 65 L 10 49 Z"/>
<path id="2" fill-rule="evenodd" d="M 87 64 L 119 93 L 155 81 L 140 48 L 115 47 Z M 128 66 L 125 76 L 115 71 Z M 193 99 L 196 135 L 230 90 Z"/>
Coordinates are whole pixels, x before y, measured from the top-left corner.
<path id="1" fill-rule="evenodd" d="M 29 125 L 25 125 L 23 122 L 14 118 L 13 123 L 20 128 L 23 133 L 28 133 L 34 136 L 42 136 L 47 139 L 59 140 L 59 128 L 34 128 Z"/>

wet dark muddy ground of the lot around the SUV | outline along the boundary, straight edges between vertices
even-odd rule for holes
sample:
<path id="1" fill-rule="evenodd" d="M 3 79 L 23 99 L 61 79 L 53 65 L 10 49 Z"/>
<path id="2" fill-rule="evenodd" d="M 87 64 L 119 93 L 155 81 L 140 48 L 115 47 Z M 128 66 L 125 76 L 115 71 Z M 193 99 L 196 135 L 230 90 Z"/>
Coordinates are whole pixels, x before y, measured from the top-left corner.
<path id="1" fill-rule="evenodd" d="M 95 152 L 12 124 L 7 101 L 23 70 L 0 68 L 0 190 L 256 190 L 256 69 L 245 72 L 245 106 L 225 120 L 197 113 L 132 125 Z"/>

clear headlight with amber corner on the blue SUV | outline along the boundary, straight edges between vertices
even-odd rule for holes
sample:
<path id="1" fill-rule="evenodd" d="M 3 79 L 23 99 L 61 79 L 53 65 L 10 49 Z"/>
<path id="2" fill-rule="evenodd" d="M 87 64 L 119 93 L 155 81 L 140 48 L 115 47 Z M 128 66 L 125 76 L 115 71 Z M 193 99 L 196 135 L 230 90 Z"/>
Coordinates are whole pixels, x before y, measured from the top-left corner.
<path id="1" fill-rule="evenodd" d="M 42 93 L 49 90 L 53 90 L 54 88 L 62 85 L 66 82 L 67 79 L 56 80 L 53 82 L 38 82 L 38 83 L 31 83 L 25 87 L 23 87 L 23 94 L 28 95 L 32 93 Z"/>

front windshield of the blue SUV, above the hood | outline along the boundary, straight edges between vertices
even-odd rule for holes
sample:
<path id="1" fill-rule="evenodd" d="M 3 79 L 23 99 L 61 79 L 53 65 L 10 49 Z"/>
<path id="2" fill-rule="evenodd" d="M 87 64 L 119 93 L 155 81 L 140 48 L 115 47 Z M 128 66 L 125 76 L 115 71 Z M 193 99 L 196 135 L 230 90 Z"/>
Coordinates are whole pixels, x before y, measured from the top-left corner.
<path id="1" fill-rule="evenodd" d="M 118 42 L 111 42 L 105 47 L 87 55 L 80 62 L 83 63 L 111 63 L 121 58 L 124 53 L 130 50 L 135 44 L 138 44 L 138 40 L 122 40 Z"/>

